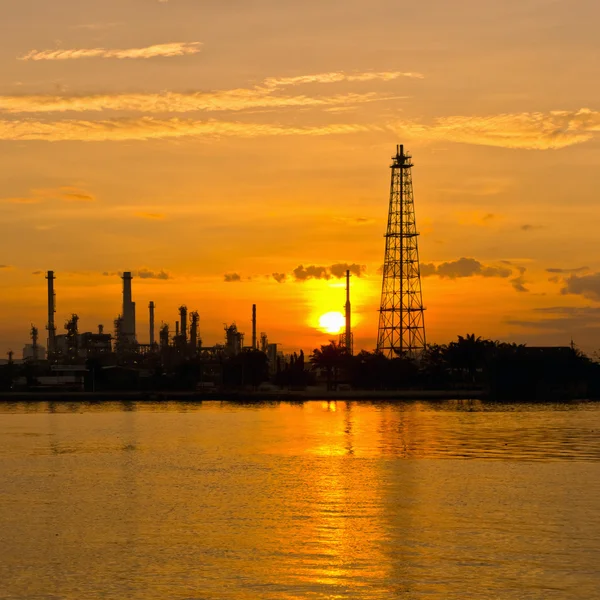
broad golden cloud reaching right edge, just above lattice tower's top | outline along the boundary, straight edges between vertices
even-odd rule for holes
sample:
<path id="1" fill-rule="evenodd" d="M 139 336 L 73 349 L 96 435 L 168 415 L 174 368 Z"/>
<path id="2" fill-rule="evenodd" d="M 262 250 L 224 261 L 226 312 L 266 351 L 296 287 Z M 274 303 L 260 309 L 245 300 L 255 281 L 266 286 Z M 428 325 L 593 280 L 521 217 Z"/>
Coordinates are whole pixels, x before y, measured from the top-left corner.
<path id="1" fill-rule="evenodd" d="M 587 142 L 600 131 L 600 112 L 508 113 L 439 117 L 432 124 L 399 122 L 398 133 L 420 140 L 452 141 L 524 150 L 558 150 Z"/>

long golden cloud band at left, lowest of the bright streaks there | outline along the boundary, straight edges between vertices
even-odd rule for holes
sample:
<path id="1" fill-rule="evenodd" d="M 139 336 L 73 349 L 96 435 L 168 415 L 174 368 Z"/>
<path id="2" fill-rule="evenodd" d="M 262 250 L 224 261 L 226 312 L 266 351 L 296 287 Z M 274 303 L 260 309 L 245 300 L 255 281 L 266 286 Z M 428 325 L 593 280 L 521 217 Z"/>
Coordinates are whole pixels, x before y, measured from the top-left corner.
<path id="1" fill-rule="evenodd" d="M 261 125 L 225 121 L 195 121 L 185 119 L 111 119 L 105 121 L 1 121 L 0 140 L 58 141 L 145 141 L 182 137 L 267 137 L 348 135 L 381 128 L 358 124 L 330 124 L 313 127 Z"/>

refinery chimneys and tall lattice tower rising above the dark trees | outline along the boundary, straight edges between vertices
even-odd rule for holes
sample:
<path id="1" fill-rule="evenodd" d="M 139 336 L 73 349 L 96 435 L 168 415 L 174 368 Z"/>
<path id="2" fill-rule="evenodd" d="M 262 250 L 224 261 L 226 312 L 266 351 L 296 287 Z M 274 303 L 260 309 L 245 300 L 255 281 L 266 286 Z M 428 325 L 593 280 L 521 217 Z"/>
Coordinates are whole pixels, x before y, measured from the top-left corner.
<path id="1" fill-rule="evenodd" d="M 417 229 L 412 189 L 412 160 L 399 145 L 391 165 L 391 192 L 389 199 L 388 224 L 385 234 L 386 247 L 382 276 L 381 307 L 377 351 L 388 358 L 408 354 L 418 356 L 425 350 L 424 309 L 421 294 Z M 200 315 L 197 311 L 188 314 L 187 306 L 179 308 L 179 319 L 175 323 L 174 335 L 169 325 L 162 324 L 158 342 L 155 336 L 156 304 L 150 300 L 148 343 L 141 343 L 136 332 L 136 303 L 133 301 L 130 271 L 122 274 L 122 312 L 114 320 L 113 334 L 105 333 L 103 325 L 98 332 L 80 333 L 79 316 L 72 314 L 65 323 L 65 334 L 58 335 L 55 323 L 56 292 L 54 271 L 48 271 L 48 331 L 47 349 L 39 344 L 39 330 L 31 327 L 31 344 L 24 350 L 24 358 L 40 360 L 46 354 L 51 364 L 73 362 L 97 355 L 114 353 L 117 357 L 138 354 L 169 352 L 174 348 L 181 357 L 189 358 L 198 353 L 214 356 L 217 353 L 235 355 L 244 349 L 261 350 L 270 364 L 277 360 L 277 344 L 269 344 L 266 333 L 257 338 L 256 305 L 252 307 L 252 341 L 244 346 L 244 334 L 237 325 L 225 326 L 225 343 L 203 347 L 199 337 Z M 346 272 L 345 328 L 339 345 L 350 355 L 354 352 L 354 336 L 351 325 L 350 271 Z M 189 331 L 189 334 L 188 334 Z"/>

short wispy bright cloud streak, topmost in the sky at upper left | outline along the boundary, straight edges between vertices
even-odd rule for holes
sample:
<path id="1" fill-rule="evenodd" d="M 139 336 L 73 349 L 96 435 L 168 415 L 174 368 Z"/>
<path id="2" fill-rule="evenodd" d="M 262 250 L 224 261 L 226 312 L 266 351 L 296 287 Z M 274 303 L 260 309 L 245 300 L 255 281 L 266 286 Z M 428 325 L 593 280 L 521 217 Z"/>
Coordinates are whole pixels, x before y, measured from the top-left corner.
<path id="1" fill-rule="evenodd" d="M 173 42 L 170 44 L 155 44 L 145 48 L 127 48 L 124 50 L 109 50 L 106 48 L 81 48 L 65 50 L 31 50 L 20 60 L 76 60 L 80 58 L 156 58 L 185 56 L 197 54 L 202 47 L 201 42 Z"/>

